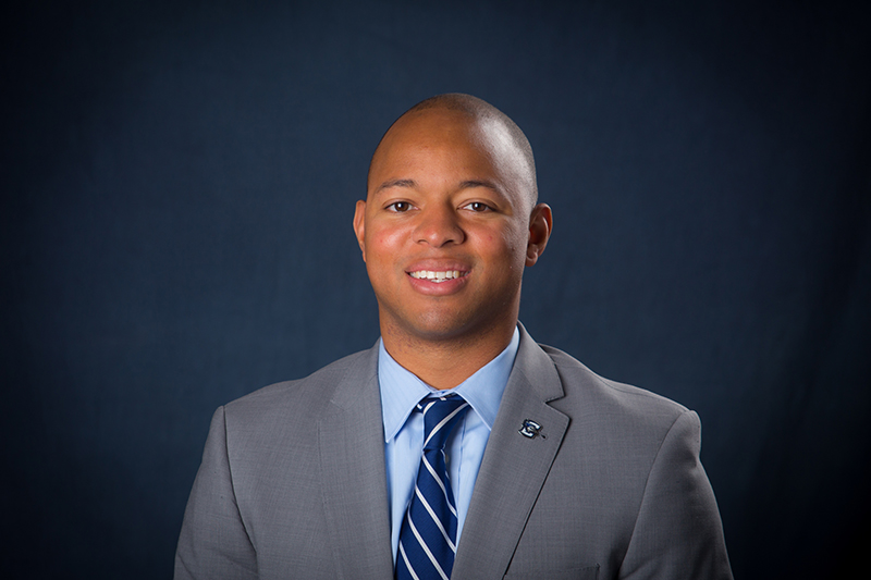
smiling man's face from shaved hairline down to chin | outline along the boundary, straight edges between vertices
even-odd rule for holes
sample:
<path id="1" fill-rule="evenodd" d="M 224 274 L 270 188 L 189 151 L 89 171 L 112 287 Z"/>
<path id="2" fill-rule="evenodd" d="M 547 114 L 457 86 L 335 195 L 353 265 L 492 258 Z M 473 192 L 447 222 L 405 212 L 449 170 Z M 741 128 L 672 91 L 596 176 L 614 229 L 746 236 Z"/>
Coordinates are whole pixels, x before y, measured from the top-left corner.
<path id="1" fill-rule="evenodd" d="M 434 109 L 394 124 L 354 218 L 382 334 L 433 341 L 513 326 L 524 266 L 540 251 L 528 248 L 531 187 L 495 122 Z"/>

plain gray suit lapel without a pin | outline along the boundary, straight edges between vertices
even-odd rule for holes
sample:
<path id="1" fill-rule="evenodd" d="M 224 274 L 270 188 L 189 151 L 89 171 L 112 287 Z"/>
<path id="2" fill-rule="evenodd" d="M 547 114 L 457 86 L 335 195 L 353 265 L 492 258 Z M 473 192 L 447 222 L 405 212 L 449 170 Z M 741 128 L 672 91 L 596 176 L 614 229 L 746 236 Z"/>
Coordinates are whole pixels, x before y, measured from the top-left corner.
<path id="1" fill-rule="evenodd" d="M 378 347 L 351 367 L 318 422 L 323 508 L 340 578 L 391 578 Z"/>

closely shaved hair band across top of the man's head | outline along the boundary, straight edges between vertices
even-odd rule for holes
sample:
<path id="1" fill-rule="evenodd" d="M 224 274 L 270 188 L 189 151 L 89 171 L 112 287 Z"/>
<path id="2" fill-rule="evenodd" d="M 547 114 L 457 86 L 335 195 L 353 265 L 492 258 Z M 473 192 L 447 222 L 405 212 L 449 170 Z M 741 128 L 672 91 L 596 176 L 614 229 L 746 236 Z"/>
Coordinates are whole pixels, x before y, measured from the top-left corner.
<path id="1" fill-rule="evenodd" d="M 526 138 L 520 127 L 518 127 L 508 115 L 489 102 L 473 97 L 471 95 L 464 95 L 461 92 L 437 95 L 408 109 L 402 116 L 393 122 L 381 137 L 375 155 L 372 156 L 372 161 L 369 164 L 369 175 L 371 176 L 372 166 L 379 158 L 382 145 L 389 140 L 389 136 L 396 127 L 404 124 L 406 121 L 437 112 L 447 112 L 464 116 L 469 123 L 482 127 L 482 129 L 488 133 L 491 140 L 503 140 L 511 144 L 514 153 L 510 156 L 512 158 L 511 162 L 522 165 L 515 168 L 515 171 L 523 173 L 525 176 L 524 182 L 526 182 L 526 186 L 524 188 L 524 194 L 530 201 L 529 208 L 531 210 L 538 201 L 538 184 L 536 181 L 536 160 L 532 156 L 532 147 L 529 145 L 529 139 Z"/>

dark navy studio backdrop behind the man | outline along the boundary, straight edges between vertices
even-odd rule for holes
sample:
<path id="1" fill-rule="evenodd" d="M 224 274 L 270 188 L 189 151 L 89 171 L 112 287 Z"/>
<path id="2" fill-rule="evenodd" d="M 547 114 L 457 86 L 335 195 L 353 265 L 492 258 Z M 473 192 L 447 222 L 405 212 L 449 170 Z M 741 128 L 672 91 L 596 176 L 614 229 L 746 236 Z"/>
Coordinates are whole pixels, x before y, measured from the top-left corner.
<path id="1" fill-rule="evenodd" d="M 171 577 L 214 408 L 378 337 L 369 157 L 462 91 L 525 129 L 554 210 L 532 336 L 699 412 L 736 578 L 845 576 L 871 541 L 867 5 L 3 9 L 0 571 Z"/>

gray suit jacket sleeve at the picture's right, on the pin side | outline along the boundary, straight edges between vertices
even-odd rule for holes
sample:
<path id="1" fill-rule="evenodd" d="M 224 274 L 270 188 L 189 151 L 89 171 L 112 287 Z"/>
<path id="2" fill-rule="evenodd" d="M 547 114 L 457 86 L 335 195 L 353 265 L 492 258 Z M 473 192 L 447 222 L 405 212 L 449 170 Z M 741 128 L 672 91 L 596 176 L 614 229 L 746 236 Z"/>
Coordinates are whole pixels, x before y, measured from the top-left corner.
<path id="1" fill-rule="evenodd" d="M 685 411 L 666 433 L 651 467 L 619 578 L 732 579 L 700 447 L 699 417 Z"/>

